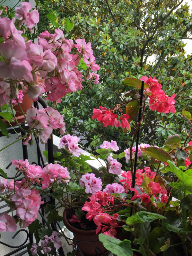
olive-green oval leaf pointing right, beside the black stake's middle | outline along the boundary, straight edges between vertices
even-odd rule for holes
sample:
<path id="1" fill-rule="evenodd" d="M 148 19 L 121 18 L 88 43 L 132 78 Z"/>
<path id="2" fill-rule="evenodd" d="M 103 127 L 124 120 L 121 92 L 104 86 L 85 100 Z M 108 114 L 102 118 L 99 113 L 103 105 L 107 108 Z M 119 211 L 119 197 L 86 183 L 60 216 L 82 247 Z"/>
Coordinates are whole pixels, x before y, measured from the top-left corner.
<path id="1" fill-rule="evenodd" d="M 158 147 L 147 147 L 144 149 L 145 154 L 163 162 L 163 163 L 168 163 L 167 161 L 170 160 L 172 161 L 172 158 L 170 155 L 163 149 L 158 148 Z"/>

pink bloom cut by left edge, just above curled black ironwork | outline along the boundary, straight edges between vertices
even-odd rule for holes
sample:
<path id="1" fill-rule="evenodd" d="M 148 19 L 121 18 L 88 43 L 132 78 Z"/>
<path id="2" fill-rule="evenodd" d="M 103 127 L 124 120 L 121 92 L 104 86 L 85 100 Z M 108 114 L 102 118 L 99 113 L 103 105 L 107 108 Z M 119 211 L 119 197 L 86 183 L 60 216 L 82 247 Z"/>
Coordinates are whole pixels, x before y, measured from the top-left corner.
<path id="1" fill-rule="evenodd" d="M 14 232 L 16 228 L 17 224 L 13 217 L 7 215 L 7 213 L 0 216 L 0 231 L 5 232 L 8 229 L 9 232 Z"/>

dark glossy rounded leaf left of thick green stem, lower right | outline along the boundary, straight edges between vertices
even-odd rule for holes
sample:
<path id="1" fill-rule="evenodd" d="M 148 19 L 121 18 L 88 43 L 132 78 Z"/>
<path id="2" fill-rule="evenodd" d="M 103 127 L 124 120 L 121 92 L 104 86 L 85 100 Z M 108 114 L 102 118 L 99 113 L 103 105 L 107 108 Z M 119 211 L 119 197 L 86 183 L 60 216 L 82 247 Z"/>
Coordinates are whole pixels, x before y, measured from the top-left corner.
<path id="1" fill-rule="evenodd" d="M 175 227 L 179 227 L 179 225 L 181 224 L 182 218 L 180 215 L 177 214 L 176 210 L 169 210 L 168 212 L 165 213 L 164 216 L 166 217 L 166 219 L 162 220 L 162 228 L 163 231 L 165 232 L 167 232 L 168 229 L 164 224 L 169 224 Z"/>

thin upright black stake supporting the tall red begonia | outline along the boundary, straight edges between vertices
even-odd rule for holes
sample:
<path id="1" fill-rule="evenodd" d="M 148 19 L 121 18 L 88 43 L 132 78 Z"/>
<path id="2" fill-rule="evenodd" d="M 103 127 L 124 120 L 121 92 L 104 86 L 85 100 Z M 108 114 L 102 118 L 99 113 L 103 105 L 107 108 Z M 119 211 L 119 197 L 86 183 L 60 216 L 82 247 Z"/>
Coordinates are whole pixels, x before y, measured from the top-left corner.
<path id="1" fill-rule="evenodd" d="M 140 108 L 139 108 L 139 118 L 138 122 L 141 121 L 141 112 L 142 112 L 142 104 L 143 104 L 143 90 L 144 90 L 144 80 L 141 82 L 141 93 L 140 93 Z M 140 128 L 138 129 L 137 132 L 137 138 L 136 138 L 136 149 L 135 149 L 135 161 L 134 161 L 134 171 L 133 171 L 133 178 L 132 178 L 132 184 L 131 188 L 135 188 L 135 174 L 136 174 L 136 169 L 137 169 L 137 153 L 138 153 L 138 145 L 139 145 L 139 131 Z M 132 191 L 132 197 L 134 196 L 134 191 Z M 132 203 L 133 205 L 133 203 Z M 133 207 L 130 209 L 130 216 L 133 214 Z"/>

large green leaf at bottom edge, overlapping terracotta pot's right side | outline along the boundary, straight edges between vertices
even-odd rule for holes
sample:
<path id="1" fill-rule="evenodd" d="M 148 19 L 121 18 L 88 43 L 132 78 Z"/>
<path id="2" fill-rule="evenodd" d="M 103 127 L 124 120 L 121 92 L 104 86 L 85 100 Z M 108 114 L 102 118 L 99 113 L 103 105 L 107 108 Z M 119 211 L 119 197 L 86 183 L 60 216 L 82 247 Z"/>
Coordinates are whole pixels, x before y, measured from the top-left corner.
<path id="1" fill-rule="evenodd" d="M 99 234 L 99 241 L 103 243 L 107 250 L 117 256 L 133 256 L 131 241 L 127 239 L 121 241 L 109 235 Z"/>

